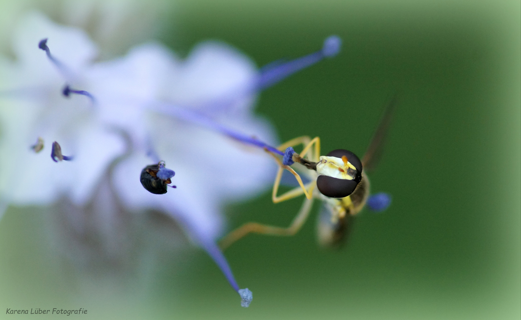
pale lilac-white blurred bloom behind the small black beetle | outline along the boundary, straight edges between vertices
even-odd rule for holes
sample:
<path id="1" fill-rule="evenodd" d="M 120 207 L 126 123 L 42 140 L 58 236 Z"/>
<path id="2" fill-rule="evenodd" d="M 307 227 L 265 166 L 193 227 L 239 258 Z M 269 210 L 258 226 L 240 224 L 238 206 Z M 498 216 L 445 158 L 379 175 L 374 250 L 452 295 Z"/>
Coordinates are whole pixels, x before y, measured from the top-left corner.
<path id="1" fill-rule="evenodd" d="M 197 221 L 200 230 L 211 238 L 219 234 L 222 203 L 251 195 L 265 186 L 274 165 L 262 150 L 250 148 L 244 152 L 247 148 L 236 141 L 151 112 L 150 106 L 169 102 L 212 113 L 215 121 L 274 141 L 269 125 L 252 114 L 252 94 L 237 99 L 233 108 L 219 110 L 211 103 L 249 83 L 256 74 L 248 59 L 217 43 L 196 47 L 186 61 L 158 44 L 148 44 L 134 48 L 124 58 L 94 66 L 88 74 L 92 84 L 89 89 L 100 100 L 100 118 L 131 128 L 128 131 L 137 148 L 116 170 L 116 176 L 124 180 L 118 188 L 127 206 L 163 206 L 168 197 L 169 211 Z M 154 195 L 143 192 L 138 179 L 123 178 L 136 177 L 144 165 L 152 163 L 146 157 L 147 148 L 154 148 L 167 167 L 176 171 L 175 191 Z"/>

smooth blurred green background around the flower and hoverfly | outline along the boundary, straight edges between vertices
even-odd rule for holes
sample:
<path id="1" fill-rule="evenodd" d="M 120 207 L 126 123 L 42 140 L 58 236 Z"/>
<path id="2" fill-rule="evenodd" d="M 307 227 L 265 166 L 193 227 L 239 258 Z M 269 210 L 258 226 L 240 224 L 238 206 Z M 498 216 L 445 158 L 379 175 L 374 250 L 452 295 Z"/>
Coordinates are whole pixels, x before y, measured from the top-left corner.
<path id="1" fill-rule="evenodd" d="M 11 207 L 0 223 L 0 318 L 55 304 L 96 319 L 521 317 L 519 1 L 180 1 L 165 23 L 159 39 L 181 55 L 221 39 L 259 66 L 341 36 L 338 57 L 266 90 L 256 110 L 281 141 L 320 136 L 324 153 L 362 155 L 398 93 L 370 175 L 391 207 L 361 212 L 340 250 L 317 246 L 316 215 L 294 237 L 234 244 L 226 256 L 253 291 L 248 309 L 203 251 L 155 266 L 146 294 L 78 292 L 56 271 L 42 216 Z M 301 201 L 274 205 L 266 191 L 230 205 L 229 228 L 288 225 Z"/>

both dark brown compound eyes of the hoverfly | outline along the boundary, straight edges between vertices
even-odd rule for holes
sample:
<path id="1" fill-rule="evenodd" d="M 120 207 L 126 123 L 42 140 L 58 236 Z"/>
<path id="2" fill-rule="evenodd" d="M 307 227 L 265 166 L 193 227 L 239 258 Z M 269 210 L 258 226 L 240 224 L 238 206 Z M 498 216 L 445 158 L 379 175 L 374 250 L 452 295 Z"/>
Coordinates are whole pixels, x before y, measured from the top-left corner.
<path id="1" fill-rule="evenodd" d="M 344 149 L 333 150 L 327 156 L 337 158 L 346 156 L 348 161 L 356 168 L 356 175 L 353 180 L 320 175 L 317 178 L 318 191 L 330 198 L 343 198 L 350 195 L 355 191 L 358 182 L 362 180 L 362 162 L 354 153 Z"/>

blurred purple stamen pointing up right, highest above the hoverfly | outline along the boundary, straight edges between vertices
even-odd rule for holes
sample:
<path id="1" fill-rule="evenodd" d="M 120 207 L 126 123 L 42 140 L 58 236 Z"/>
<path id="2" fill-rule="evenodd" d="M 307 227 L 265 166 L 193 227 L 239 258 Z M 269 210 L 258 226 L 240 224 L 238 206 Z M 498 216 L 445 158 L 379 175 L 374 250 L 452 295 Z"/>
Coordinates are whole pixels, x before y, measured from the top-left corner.
<path id="1" fill-rule="evenodd" d="M 284 63 L 270 63 L 266 65 L 261 69 L 261 74 L 257 81 L 257 88 L 265 89 L 270 87 L 293 73 L 307 68 L 324 58 L 336 56 L 340 51 L 341 44 L 342 40 L 340 37 L 332 35 L 326 38 L 322 49 L 313 54 Z"/>

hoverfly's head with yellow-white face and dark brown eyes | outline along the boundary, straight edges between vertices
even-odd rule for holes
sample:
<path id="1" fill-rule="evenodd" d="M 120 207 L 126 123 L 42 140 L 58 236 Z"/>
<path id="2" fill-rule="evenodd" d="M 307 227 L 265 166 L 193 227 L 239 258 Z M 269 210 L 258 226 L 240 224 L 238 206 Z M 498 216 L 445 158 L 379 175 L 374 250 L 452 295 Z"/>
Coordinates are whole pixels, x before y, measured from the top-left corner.
<path id="1" fill-rule="evenodd" d="M 362 162 L 351 151 L 333 150 L 317 163 L 317 188 L 331 198 L 343 198 L 356 189 L 362 180 Z"/>

